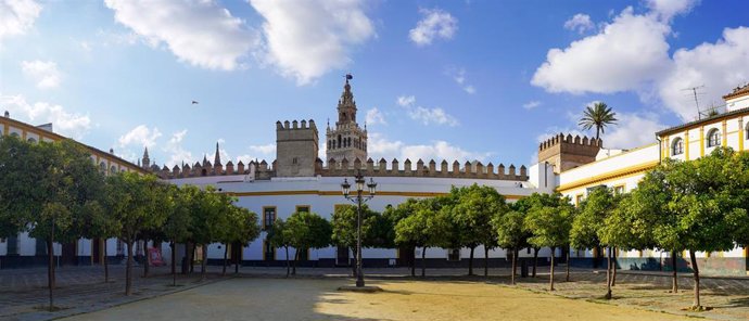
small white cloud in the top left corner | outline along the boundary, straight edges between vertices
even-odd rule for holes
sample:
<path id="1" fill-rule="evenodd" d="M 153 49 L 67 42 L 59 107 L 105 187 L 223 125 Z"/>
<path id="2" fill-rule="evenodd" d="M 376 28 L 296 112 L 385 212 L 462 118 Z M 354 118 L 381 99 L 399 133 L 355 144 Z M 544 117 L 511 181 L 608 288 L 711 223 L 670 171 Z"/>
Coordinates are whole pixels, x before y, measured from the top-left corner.
<path id="1" fill-rule="evenodd" d="M 34 0 L 0 0 L 0 48 L 3 38 L 26 34 L 40 12 L 41 4 Z"/>

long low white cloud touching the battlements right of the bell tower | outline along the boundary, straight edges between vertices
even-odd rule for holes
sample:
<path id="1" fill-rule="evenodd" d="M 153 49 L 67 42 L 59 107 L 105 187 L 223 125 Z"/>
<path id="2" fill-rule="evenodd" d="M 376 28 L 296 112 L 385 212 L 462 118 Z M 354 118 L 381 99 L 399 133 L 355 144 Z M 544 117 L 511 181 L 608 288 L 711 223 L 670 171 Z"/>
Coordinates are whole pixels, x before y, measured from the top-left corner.
<path id="1" fill-rule="evenodd" d="M 458 160 L 462 165 L 466 160 L 481 160 L 485 163 L 492 156 L 492 153 L 488 152 L 467 151 L 442 140 L 435 140 L 429 144 L 407 144 L 399 140 L 391 141 L 378 132 L 369 134 L 367 146 L 370 157 L 376 159 L 376 162 L 380 158 L 385 158 L 390 165 L 393 158 L 397 158 L 401 162 L 401 166 L 403 166 L 403 162 L 406 158 L 411 160 L 414 164 L 411 166 L 416 166 L 416 162 L 419 158 L 424 164 L 428 164 L 431 159 L 434 159 L 437 164 L 442 159 L 446 159 L 450 164 L 453 160 Z"/>

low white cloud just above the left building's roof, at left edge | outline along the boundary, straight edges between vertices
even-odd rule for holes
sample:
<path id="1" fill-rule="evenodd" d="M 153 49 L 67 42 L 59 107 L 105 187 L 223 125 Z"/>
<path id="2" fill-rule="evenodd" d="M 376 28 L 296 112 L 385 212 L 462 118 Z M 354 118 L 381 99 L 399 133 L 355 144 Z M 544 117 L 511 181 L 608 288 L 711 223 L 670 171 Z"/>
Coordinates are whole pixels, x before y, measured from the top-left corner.
<path id="1" fill-rule="evenodd" d="M 21 94 L 0 94 L 0 106 L 10 112 L 12 118 L 22 121 L 52 123 L 55 132 L 77 140 L 91 128 L 91 119 L 88 115 L 71 113 L 61 105 L 48 102 L 30 104 Z"/>

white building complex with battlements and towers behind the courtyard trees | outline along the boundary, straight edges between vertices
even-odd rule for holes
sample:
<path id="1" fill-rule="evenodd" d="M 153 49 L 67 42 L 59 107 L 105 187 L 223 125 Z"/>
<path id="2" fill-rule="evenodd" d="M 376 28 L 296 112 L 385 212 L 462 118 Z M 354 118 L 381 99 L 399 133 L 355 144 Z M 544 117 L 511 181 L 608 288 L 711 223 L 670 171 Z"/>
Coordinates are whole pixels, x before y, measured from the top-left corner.
<path id="1" fill-rule="evenodd" d="M 495 167 L 492 163 L 484 165 L 480 162 L 447 163 L 441 159 L 436 159 L 440 163 L 431 159 L 404 159 L 401 164 L 397 159 L 365 159 L 367 129 L 360 128 L 356 123 L 356 103 L 346 80 L 338 104 L 339 121 L 334 127 L 326 129 L 327 163 L 317 157 L 319 138 L 315 121 L 294 120 L 276 124 L 277 157 L 270 164 L 263 160 L 246 165 L 228 162 L 224 165 L 217 146 L 213 164 L 204 158 L 202 163 L 192 166 L 160 169 L 156 165 L 150 165 L 145 153 L 142 167 L 178 185 L 213 185 L 221 192 L 231 193 L 238 197 L 238 205 L 259 215 L 264 228 L 270 226 L 274 219 L 287 218 L 300 210 L 330 218 L 337 206 L 350 204 L 343 197 L 340 184 L 344 178 L 352 180 L 358 171 L 378 183 L 377 196 L 369 202 L 369 206 L 378 211 L 389 204 L 397 205 L 409 197 L 432 197 L 448 193 L 453 185 L 473 183 L 494 187 L 510 202 L 534 192 L 558 191 L 577 204 L 593 187 L 602 184 L 620 193 L 636 188 L 644 174 L 664 157 L 694 159 L 709 154 L 718 145 L 745 151 L 745 142 L 749 139 L 749 86 L 735 89 L 724 99 L 725 113 L 653 133 L 652 144 L 629 151 L 602 149 L 600 140 L 560 133 L 539 144 L 538 163 L 529 168 L 512 165 L 505 167 L 502 164 Z M 21 125 L 27 129 L 30 127 L 8 118 L 4 121 L 4 134 Z M 15 127 L 5 125 L 8 121 L 12 121 L 11 125 Z M 117 163 L 122 160 L 118 158 L 106 158 L 106 154 L 97 151 L 92 149 L 92 157 L 111 159 L 107 160 L 110 163 L 116 160 L 112 164 L 116 163 L 118 170 L 136 167 L 132 164 Z M 346 158 L 350 156 L 354 159 Z M 94 162 L 99 163 L 100 158 Z M 105 166 L 110 166 L 110 163 Z M 263 232 L 249 246 L 232 249 L 232 259 L 240 259 L 244 265 L 282 265 L 282 249 L 271 248 L 265 239 L 266 233 Z M 27 235 L 21 234 L 15 242 L 15 246 L 20 248 L 16 256 L 38 255 L 38 251 L 34 251 L 35 241 Z M 102 252 L 97 244 L 101 244 L 101 241 L 77 242 L 77 261 L 100 261 Z M 0 260 L 8 260 L 8 240 L 0 243 Z M 107 252 L 112 255 L 123 253 L 116 240 L 109 240 L 107 246 Z M 223 258 L 224 249 L 220 246 L 208 246 L 210 259 Z M 169 258 L 168 246 L 162 248 L 164 257 Z M 366 265 L 389 266 L 405 264 L 414 256 L 419 258 L 421 251 L 423 249 L 418 248 L 416 253 L 402 253 L 393 248 L 367 248 L 363 254 Z M 483 253 L 483 248 L 477 248 L 475 257 L 482 260 Z M 548 249 L 544 249 L 541 257 L 548 257 L 549 254 Z M 559 254 L 558 252 L 557 255 Z M 488 259 L 492 266 L 506 265 L 506 255 L 503 249 L 494 249 L 490 252 Z M 530 251 L 522 252 L 522 256 L 530 255 Z M 573 264 L 576 265 L 589 265 L 591 258 L 600 255 L 597 251 L 572 249 Z M 668 256 L 668 253 L 658 251 L 620 253 L 619 266 L 622 269 L 660 269 L 669 264 Z M 702 260 L 700 269 L 708 273 L 745 274 L 749 270 L 746 248 L 737 247 L 726 253 L 700 253 L 699 256 Z M 468 249 L 430 248 L 427 257 L 432 266 L 465 265 Z M 303 265 L 335 266 L 347 264 L 351 253 L 331 246 L 312 249 L 302 254 L 302 258 Z M 477 264 L 481 266 L 481 262 Z"/>

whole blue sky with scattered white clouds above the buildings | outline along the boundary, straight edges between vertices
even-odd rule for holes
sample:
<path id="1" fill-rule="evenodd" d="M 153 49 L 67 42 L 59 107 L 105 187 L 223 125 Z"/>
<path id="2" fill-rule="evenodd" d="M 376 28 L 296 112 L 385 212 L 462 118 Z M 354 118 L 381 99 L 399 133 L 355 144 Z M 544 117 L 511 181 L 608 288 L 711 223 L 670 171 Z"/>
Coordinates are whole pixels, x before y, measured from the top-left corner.
<path id="1" fill-rule="evenodd" d="M 749 2 L 0 0 L 0 111 L 136 162 L 275 159 L 277 120 L 337 119 L 369 156 L 532 165 L 605 102 L 632 149 L 749 81 Z M 193 104 L 192 101 L 196 101 Z"/>

